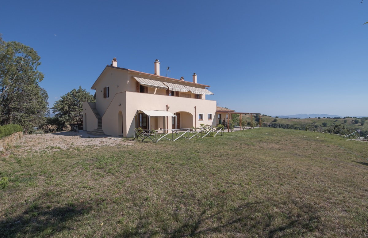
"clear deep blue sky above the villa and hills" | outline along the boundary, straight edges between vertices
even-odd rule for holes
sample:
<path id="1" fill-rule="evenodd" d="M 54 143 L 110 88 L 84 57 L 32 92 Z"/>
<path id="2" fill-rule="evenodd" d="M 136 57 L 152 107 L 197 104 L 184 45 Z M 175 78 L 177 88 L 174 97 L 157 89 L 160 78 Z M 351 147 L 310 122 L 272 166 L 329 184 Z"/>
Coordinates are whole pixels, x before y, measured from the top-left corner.
<path id="1" fill-rule="evenodd" d="M 5 1 L 0 33 L 34 48 L 49 103 L 122 68 L 210 85 L 222 107 L 368 114 L 368 1 Z"/>

